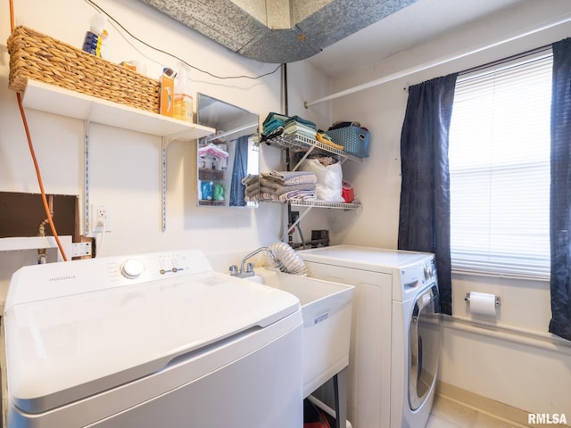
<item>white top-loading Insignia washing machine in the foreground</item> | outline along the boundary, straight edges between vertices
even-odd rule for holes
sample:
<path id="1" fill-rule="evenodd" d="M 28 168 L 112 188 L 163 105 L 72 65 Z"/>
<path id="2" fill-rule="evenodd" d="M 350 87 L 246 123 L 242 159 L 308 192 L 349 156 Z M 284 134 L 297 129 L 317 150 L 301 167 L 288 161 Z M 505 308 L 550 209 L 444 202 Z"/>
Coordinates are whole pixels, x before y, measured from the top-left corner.
<path id="1" fill-rule="evenodd" d="M 8 428 L 302 427 L 299 300 L 201 251 L 21 268 L 4 335 Z"/>

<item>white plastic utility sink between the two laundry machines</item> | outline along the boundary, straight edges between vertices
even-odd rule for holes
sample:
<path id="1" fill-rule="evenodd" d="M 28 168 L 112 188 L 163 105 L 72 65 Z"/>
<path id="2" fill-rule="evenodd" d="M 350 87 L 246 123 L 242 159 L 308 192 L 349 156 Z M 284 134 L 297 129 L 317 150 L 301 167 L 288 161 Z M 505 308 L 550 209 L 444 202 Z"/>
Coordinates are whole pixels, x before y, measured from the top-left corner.
<path id="1" fill-rule="evenodd" d="M 256 268 L 262 284 L 294 294 L 302 305 L 303 397 L 349 364 L 354 287 Z"/>

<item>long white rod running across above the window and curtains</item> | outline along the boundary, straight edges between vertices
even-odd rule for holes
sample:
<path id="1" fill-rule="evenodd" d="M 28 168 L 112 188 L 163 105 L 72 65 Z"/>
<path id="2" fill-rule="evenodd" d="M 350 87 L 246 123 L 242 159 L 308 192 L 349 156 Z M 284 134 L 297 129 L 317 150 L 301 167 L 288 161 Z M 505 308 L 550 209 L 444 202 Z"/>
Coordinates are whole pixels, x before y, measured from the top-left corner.
<path id="1" fill-rule="evenodd" d="M 425 62 L 423 64 L 420 64 L 420 65 L 417 65 L 414 67 L 410 67 L 410 68 L 405 69 L 405 70 L 397 71 L 395 73 L 389 74 L 389 75 L 384 76 L 382 78 L 377 78 L 377 79 L 371 80 L 367 83 L 363 83 L 363 84 L 358 85 L 358 86 L 353 86 L 353 87 L 350 87 L 348 89 L 344 89 L 343 91 L 336 92 L 335 94 L 324 96 L 323 98 L 319 98 L 315 101 L 311 101 L 311 102 L 304 101 L 303 105 L 307 109 L 307 108 L 311 107 L 312 105 L 316 105 L 319 103 L 325 103 L 326 101 L 330 101 L 330 100 L 335 100 L 336 98 L 341 98 L 342 96 L 345 96 L 345 95 L 352 95 L 356 92 L 363 91 L 363 90 L 368 89 L 370 87 L 379 86 L 379 85 L 382 85 L 384 83 L 396 80 L 397 78 L 404 78 L 406 76 L 410 76 L 411 74 L 418 73 L 419 71 L 432 69 L 433 67 L 436 67 L 438 65 L 442 65 L 442 64 L 445 64 L 447 62 L 459 60 L 460 58 L 464 58 L 465 56 L 473 55 L 474 53 L 479 53 L 479 52 L 485 51 L 487 49 L 491 49 L 492 47 L 496 47 L 499 45 L 503 45 L 505 43 L 513 42 L 514 40 L 517 40 L 517 39 L 522 38 L 522 37 L 531 36 L 532 34 L 538 33 L 540 31 L 544 31 L 545 29 L 557 27 L 558 25 L 565 24 L 569 21 L 571 21 L 571 16 L 567 16 L 566 18 L 563 18 L 559 21 L 555 21 L 555 22 L 551 22 L 549 24 L 542 25 L 541 27 L 538 27 L 536 29 L 531 29 L 529 31 L 525 31 L 524 33 L 519 34 L 517 36 L 509 37 L 509 38 L 506 38 L 505 40 L 501 40 L 499 42 L 495 42 L 495 43 L 492 43 L 490 45 L 484 45 L 482 47 L 478 47 L 478 48 L 473 49 L 471 51 L 468 51 L 466 53 L 459 53 L 456 55 L 443 57 L 441 59 L 438 59 L 438 60 L 435 60 L 432 62 Z"/>

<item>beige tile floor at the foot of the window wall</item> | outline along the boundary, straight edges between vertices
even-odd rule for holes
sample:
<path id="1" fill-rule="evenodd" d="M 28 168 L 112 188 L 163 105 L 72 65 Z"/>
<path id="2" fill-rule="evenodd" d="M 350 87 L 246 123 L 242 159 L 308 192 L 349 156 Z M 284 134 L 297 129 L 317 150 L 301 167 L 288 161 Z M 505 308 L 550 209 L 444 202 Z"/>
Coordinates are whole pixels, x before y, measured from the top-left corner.
<path id="1" fill-rule="evenodd" d="M 501 416 L 492 416 L 441 396 L 434 405 L 426 428 L 520 428 L 528 425 L 511 423 Z"/>

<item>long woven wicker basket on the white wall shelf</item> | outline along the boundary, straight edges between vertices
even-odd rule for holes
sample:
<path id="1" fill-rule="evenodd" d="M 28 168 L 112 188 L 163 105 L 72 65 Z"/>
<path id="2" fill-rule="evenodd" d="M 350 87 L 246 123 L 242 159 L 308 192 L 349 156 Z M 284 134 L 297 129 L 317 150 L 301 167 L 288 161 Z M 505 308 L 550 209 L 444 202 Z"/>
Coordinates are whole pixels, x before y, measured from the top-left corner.
<path id="1" fill-rule="evenodd" d="M 8 38 L 9 87 L 24 91 L 28 79 L 159 112 L 159 81 L 108 62 L 34 29 L 17 27 Z"/>

